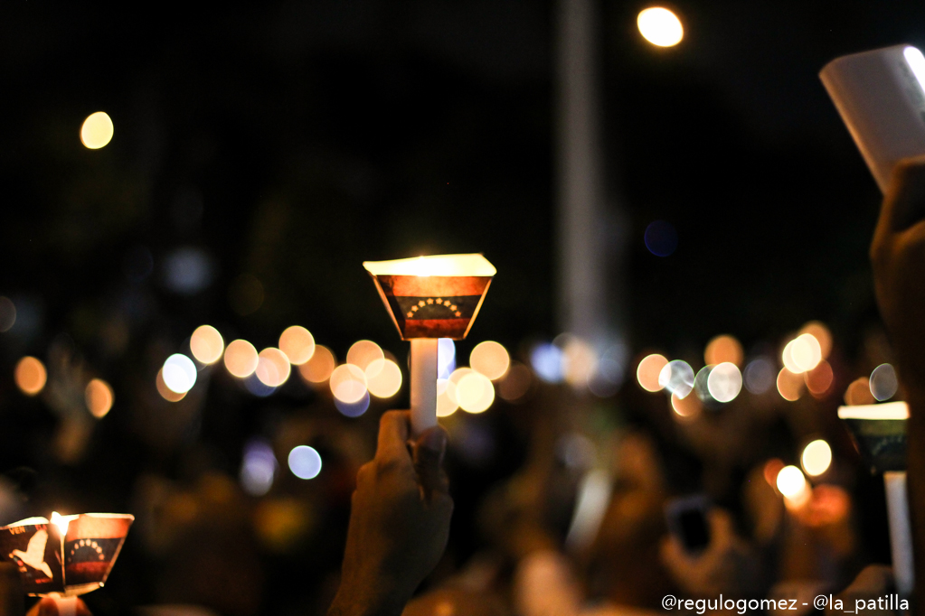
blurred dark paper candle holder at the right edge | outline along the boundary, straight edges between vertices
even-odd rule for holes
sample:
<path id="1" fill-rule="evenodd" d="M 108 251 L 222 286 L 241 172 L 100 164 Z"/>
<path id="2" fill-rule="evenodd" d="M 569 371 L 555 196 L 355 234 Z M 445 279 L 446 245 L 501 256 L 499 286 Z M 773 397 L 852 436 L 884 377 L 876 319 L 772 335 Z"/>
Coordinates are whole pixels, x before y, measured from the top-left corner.
<path id="1" fill-rule="evenodd" d="M 838 417 L 848 426 L 857 453 L 875 473 L 906 470 L 905 402 L 840 406 Z"/>

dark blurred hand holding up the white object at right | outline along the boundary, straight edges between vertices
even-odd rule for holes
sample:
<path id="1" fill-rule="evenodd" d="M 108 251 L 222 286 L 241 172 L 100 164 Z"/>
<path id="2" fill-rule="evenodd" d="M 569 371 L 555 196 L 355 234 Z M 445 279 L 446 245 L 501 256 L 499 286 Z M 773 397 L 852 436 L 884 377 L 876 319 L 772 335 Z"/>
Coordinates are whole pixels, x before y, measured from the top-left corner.
<path id="1" fill-rule="evenodd" d="M 925 157 L 894 170 L 870 245 L 877 304 L 890 332 L 899 376 L 925 398 Z"/>

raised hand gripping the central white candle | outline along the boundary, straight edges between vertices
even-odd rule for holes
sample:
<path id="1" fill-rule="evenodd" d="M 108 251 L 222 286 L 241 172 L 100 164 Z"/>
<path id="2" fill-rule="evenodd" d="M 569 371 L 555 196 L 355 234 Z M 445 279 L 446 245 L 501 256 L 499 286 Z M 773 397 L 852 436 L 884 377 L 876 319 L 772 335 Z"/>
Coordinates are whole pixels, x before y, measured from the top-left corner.
<path id="1" fill-rule="evenodd" d="M 401 614 L 446 548 L 453 511 L 442 468 L 447 434 L 437 426 L 408 443 L 410 434 L 408 411 L 388 411 L 379 421 L 376 457 L 357 473 L 328 616 Z"/>

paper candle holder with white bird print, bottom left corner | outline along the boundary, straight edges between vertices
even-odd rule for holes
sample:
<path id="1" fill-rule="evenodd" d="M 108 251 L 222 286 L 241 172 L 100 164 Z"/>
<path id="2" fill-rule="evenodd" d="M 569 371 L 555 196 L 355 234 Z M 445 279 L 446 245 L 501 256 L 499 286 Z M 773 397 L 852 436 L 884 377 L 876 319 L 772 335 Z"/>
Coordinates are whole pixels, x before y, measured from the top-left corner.
<path id="1" fill-rule="evenodd" d="M 105 584 L 135 520 L 129 513 L 52 514 L 0 527 L 0 560 L 27 595 L 76 597 Z"/>

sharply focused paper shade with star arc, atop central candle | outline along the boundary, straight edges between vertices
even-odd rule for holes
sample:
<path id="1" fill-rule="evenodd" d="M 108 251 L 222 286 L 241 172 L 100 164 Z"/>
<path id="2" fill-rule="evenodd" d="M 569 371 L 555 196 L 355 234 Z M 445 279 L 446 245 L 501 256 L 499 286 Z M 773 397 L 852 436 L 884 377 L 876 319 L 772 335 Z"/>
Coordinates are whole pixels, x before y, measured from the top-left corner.
<path id="1" fill-rule="evenodd" d="M 401 340 L 465 338 L 496 273 L 480 254 L 364 261 L 363 266 Z"/>

